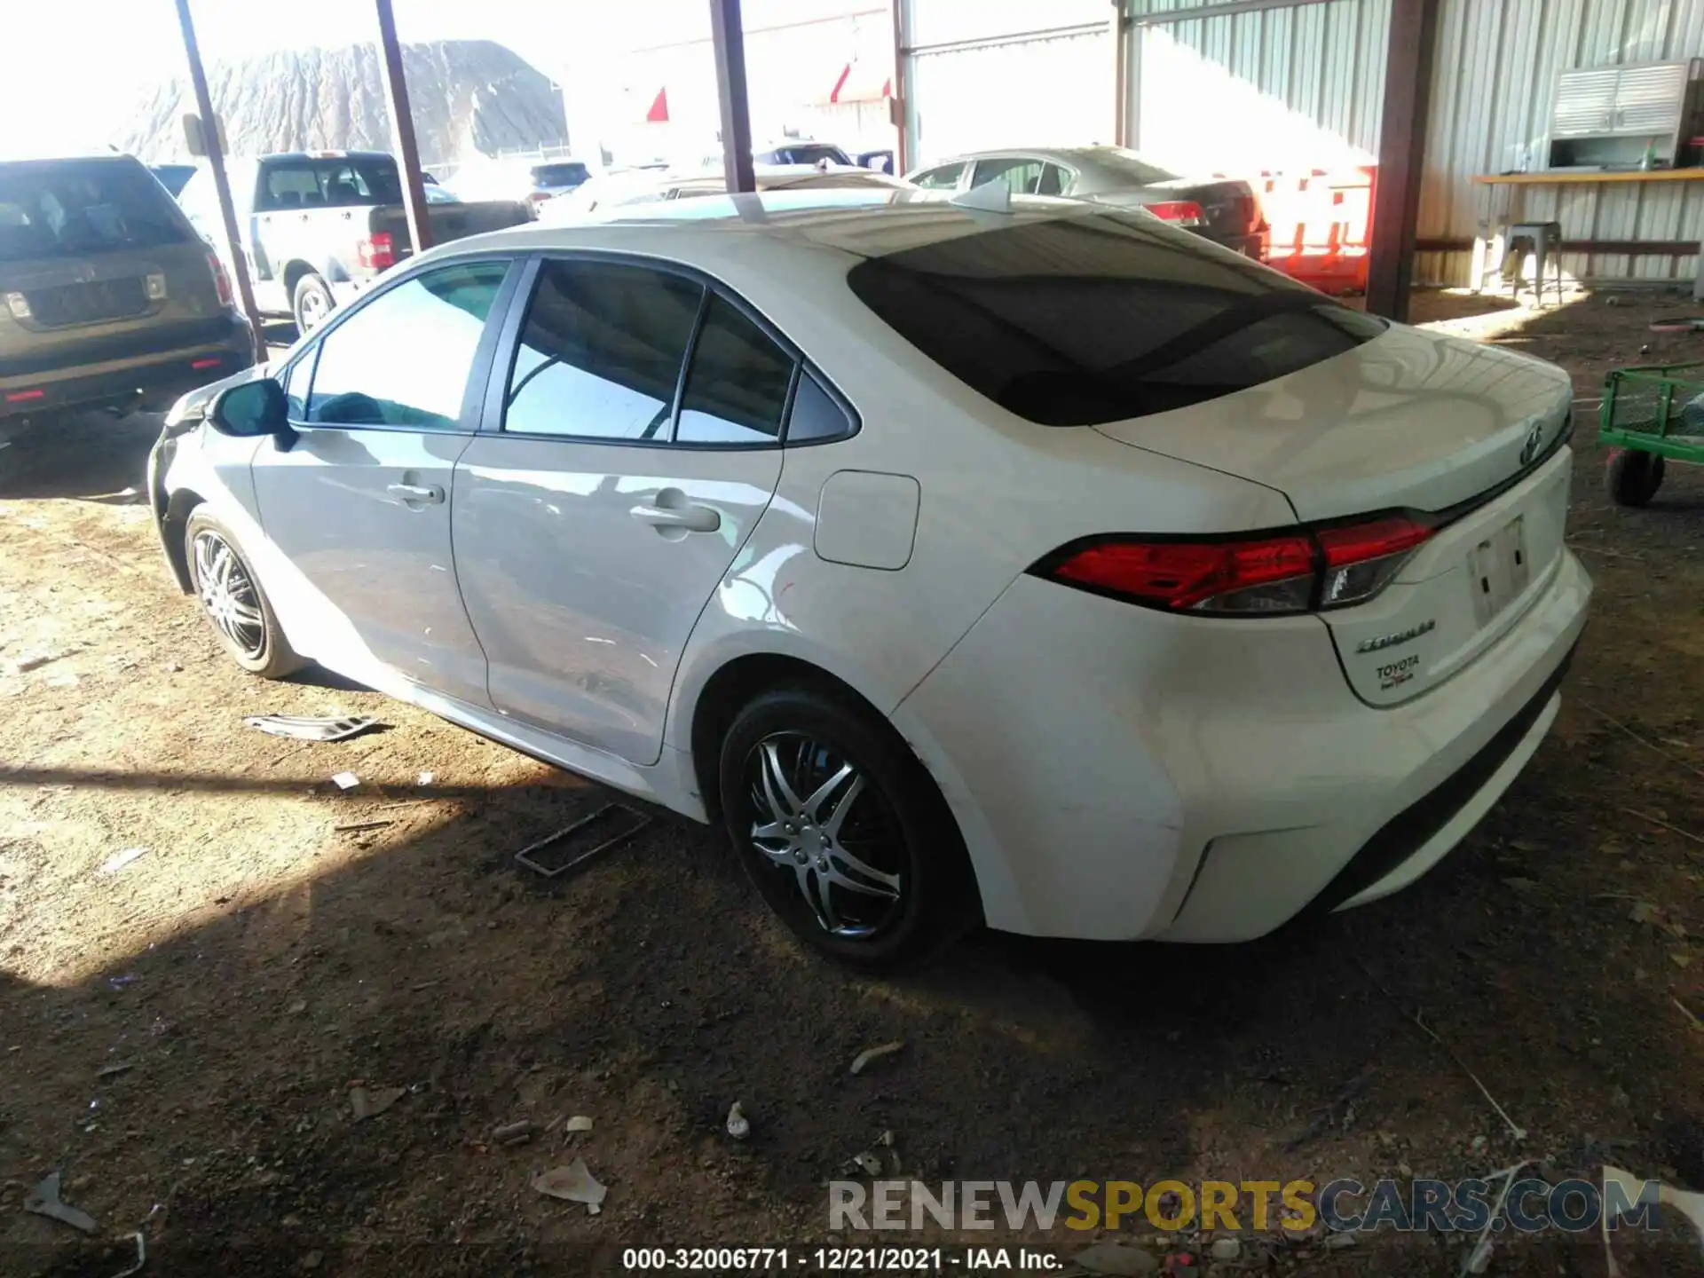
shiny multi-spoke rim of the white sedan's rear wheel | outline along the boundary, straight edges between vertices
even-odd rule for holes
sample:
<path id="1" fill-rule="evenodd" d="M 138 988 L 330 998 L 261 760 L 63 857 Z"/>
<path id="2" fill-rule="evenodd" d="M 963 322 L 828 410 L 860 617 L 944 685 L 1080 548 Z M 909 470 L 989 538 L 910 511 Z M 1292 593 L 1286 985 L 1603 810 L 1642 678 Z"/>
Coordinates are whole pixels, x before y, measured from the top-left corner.
<path id="1" fill-rule="evenodd" d="M 751 847 L 830 935 L 866 939 L 905 908 L 900 825 L 864 772 L 804 733 L 774 733 L 746 757 Z"/>

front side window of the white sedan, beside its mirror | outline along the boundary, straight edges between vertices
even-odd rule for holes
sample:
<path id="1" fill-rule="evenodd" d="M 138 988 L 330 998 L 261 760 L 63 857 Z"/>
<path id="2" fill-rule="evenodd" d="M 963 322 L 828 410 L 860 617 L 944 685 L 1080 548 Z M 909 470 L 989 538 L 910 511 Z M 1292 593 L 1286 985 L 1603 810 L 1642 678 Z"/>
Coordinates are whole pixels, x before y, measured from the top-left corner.
<path id="1" fill-rule="evenodd" d="M 356 308 L 320 339 L 308 421 L 455 429 L 506 271 L 504 262 L 446 266 Z"/>

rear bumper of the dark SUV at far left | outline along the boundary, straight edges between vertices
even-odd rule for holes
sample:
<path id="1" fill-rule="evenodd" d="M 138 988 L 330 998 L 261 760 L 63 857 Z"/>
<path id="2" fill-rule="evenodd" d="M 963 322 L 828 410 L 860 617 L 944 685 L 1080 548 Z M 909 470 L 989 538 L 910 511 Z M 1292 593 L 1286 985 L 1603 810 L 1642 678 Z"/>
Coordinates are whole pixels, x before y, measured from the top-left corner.
<path id="1" fill-rule="evenodd" d="M 165 406 L 186 390 L 249 368 L 254 339 L 245 319 L 227 315 L 193 331 L 99 339 L 44 363 L 0 360 L 0 419 L 128 400 Z"/>

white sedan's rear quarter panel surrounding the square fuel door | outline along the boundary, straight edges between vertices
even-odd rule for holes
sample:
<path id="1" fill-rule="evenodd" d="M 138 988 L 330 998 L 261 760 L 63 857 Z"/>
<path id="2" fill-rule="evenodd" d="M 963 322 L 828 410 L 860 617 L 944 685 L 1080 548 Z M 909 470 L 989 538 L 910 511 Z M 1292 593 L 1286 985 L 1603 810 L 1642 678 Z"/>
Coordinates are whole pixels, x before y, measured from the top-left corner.
<path id="1" fill-rule="evenodd" d="M 843 268 L 830 268 L 820 254 L 777 261 L 769 247 L 717 262 L 716 273 L 845 394 L 861 429 L 787 450 L 774 501 L 687 646 L 665 740 L 690 750 L 699 697 L 728 661 L 774 653 L 818 666 L 895 722 L 953 806 L 985 900 L 1012 901 L 1012 867 L 983 796 L 966 784 L 966 760 L 941 745 L 937 724 L 901 705 L 905 697 L 1014 579 L 1065 542 L 1269 528 L 1293 513 L 1258 484 L 1004 412 L 888 329 L 847 290 Z M 842 470 L 917 481 L 915 547 L 903 569 L 816 556 L 820 494 Z M 1329 641 L 1310 624 L 1329 659 Z M 990 678 L 997 687 L 999 671 Z"/>

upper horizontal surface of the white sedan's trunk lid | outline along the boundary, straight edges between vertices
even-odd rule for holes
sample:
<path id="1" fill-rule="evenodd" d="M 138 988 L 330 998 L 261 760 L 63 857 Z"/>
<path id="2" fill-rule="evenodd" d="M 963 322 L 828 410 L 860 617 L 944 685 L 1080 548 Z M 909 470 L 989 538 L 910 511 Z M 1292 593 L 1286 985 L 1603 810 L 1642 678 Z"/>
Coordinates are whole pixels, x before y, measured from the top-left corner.
<path id="1" fill-rule="evenodd" d="M 1392 324 L 1288 377 L 1094 429 L 1275 487 L 1302 520 L 1329 520 L 1477 498 L 1551 452 L 1571 400 L 1552 365 Z"/>

